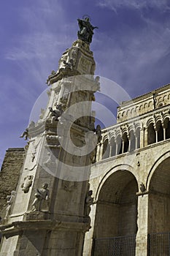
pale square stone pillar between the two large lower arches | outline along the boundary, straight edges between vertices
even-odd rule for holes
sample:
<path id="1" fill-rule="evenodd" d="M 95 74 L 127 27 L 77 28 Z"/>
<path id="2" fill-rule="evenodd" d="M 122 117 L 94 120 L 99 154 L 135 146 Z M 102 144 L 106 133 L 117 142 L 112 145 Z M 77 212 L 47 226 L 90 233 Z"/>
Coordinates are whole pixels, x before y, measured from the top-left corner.
<path id="1" fill-rule="evenodd" d="M 148 193 L 137 193 L 138 197 L 138 231 L 136 234 L 136 256 L 147 256 L 148 230 Z"/>

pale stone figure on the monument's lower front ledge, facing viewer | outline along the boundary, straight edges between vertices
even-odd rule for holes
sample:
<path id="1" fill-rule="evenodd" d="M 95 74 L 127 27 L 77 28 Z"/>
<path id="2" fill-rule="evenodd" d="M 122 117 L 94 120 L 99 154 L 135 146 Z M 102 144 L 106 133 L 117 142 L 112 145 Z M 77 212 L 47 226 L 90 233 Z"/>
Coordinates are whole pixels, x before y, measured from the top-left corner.
<path id="1" fill-rule="evenodd" d="M 49 190 L 47 189 L 48 184 L 42 185 L 41 189 L 36 189 L 36 194 L 34 195 L 34 201 L 32 203 L 32 211 L 42 210 L 42 201 L 49 200 Z"/>

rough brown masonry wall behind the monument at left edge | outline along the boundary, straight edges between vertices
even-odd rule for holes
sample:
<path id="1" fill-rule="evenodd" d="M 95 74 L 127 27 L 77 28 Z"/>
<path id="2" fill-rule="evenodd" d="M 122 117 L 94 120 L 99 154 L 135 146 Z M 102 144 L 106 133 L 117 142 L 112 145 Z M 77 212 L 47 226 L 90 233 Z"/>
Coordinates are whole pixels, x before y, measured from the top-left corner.
<path id="1" fill-rule="evenodd" d="M 7 195 L 17 187 L 24 156 L 24 148 L 7 149 L 0 172 L 0 212 L 7 203 Z"/>

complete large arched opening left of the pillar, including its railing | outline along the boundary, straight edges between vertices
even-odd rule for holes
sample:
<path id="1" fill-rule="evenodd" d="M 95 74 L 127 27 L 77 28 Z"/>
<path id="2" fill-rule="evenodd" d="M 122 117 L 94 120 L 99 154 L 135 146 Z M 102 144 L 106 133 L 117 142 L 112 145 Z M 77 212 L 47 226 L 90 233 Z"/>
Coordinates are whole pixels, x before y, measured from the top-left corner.
<path id="1" fill-rule="evenodd" d="M 136 178 L 128 170 L 118 170 L 107 178 L 98 195 L 93 255 L 135 255 L 137 191 Z M 131 246 L 128 244 L 131 254 L 127 254 L 125 239 L 132 237 L 134 244 L 132 241 Z M 119 246 L 116 248 L 118 241 Z M 117 249 L 120 254 L 116 254 Z"/>

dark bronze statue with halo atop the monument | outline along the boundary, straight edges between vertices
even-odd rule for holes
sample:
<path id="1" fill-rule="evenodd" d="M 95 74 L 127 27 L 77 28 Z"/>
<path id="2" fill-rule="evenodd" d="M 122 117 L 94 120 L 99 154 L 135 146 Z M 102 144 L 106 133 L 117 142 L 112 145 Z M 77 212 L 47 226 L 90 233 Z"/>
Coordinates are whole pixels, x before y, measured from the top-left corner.
<path id="1" fill-rule="evenodd" d="M 77 32 L 78 39 L 81 39 L 82 41 L 87 42 L 90 44 L 93 37 L 93 29 L 98 29 L 97 26 L 92 26 L 90 23 L 90 18 L 86 17 L 85 19 L 82 18 L 82 20 L 78 20 L 78 25 L 80 27 L 80 31 Z"/>

